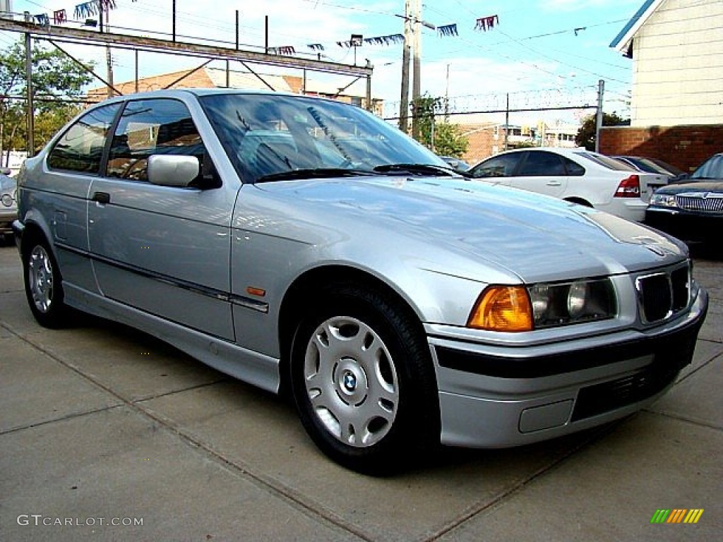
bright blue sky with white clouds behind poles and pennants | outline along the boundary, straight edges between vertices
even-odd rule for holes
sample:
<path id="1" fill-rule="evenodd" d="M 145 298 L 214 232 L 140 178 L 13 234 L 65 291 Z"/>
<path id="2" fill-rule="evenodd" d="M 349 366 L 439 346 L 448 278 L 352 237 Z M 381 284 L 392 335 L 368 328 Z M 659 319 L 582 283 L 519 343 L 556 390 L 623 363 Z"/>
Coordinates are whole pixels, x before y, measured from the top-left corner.
<path id="1" fill-rule="evenodd" d="M 65 9 L 69 27 L 80 0 L 10 0 L 12 11 L 46 13 L 53 19 Z M 170 38 L 172 0 L 115 0 L 110 24 L 118 33 Z M 239 11 L 241 48 L 262 51 L 265 16 L 269 45 L 294 47 L 299 56 L 343 64 L 374 66 L 372 95 L 385 100 L 385 116 L 398 114 L 402 45 L 393 40 L 364 42 L 359 48 L 338 46 L 361 34 L 385 38 L 403 33 L 403 0 L 176 0 L 176 39 L 192 43 L 235 47 L 236 10 Z M 557 103 L 594 102 L 600 79 L 604 80 L 604 111 L 625 116 L 629 100 L 632 61 L 609 43 L 633 17 L 643 0 L 422 0 L 422 20 L 437 27 L 456 25 L 456 34 L 423 27 L 421 58 L 422 93 L 448 97 L 460 111 L 489 111 L 512 96 L 513 106 L 555 106 Z M 479 28 L 477 20 L 495 17 L 494 27 Z M 85 20 L 85 17 L 82 17 Z M 0 48 L 21 36 L 0 32 Z M 385 43 L 386 42 L 386 43 Z M 322 51 L 312 51 L 320 44 Z M 103 66 L 103 48 L 72 49 L 84 60 Z M 194 68 L 202 61 L 181 56 L 141 53 L 140 76 Z M 225 62 L 212 66 L 225 68 Z M 235 69 L 231 66 L 231 69 Z M 236 69 L 242 69 L 240 64 Z M 278 73 L 269 66 L 259 72 Z M 114 51 L 114 80 L 132 80 L 132 52 Z M 288 70 L 287 70 L 288 72 Z M 103 72 L 100 72 L 103 74 Z M 297 71 L 297 75 L 301 72 Z M 309 78 L 328 78 L 310 74 Z M 337 87 L 349 80 L 333 76 Z M 102 83 L 98 82 L 100 86 Z M 396 110 L 396 113 L 395 113 Z M 590 111 L 583 111 L 590 113 Z M 578 118 L 582 113 L 575 113 Z M 562 115 L 562 113 L 560 113 Z M 569 117 L 568 117 L 569 118 Z"/>

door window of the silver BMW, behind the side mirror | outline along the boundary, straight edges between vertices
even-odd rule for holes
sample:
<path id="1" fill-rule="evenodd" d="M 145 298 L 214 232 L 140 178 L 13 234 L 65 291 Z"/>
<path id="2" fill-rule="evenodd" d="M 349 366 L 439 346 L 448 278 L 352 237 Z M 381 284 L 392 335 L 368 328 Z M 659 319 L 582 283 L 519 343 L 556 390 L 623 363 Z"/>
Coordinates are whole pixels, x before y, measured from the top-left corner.
<path id="1" fill-rule="evenodd" d="M 148 157 L 159 154 L 195 156 L 202 171 L 205 147 L 191 113 L 179 100 L 129 101 L 111 143 L 107 175 L 147 181 Z"/>

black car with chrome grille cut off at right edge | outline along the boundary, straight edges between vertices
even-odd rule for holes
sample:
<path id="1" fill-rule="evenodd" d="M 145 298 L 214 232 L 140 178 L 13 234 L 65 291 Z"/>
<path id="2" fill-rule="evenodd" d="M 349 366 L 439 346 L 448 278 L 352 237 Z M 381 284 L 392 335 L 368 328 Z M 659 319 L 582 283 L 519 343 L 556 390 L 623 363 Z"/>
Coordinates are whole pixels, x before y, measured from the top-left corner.
<path id="1" fill-rule="evenodd" d="M 688 181 L 656 190 L 645 222 L 677 238 L 723 246 L 723 152 L 706 160 Z"/>

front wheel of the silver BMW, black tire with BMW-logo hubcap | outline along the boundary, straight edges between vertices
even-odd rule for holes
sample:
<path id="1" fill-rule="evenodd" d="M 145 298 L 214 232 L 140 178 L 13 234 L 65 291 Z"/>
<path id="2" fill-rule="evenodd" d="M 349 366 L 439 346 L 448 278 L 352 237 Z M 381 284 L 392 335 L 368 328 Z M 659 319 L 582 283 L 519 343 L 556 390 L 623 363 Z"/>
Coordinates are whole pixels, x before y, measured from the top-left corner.
<path id="1" fill-rule="evenodd" d="M 296 328 L 291 390 L 317 446 L 357 472 L 389 475 L 440 441 L 429 346 L 411 311 L 353 284 L 325 288 Z"/>

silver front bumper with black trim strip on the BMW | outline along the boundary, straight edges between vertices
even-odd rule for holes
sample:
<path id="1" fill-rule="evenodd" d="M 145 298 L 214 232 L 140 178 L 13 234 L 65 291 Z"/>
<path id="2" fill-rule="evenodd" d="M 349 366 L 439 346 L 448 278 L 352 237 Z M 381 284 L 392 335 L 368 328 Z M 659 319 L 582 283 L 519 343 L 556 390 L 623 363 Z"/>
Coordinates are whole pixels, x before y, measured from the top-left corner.
<path id="1" fill-rule="evenodd" d="M 693 359 L 708 309 L 702 288 L 684 316 L 654 330 L 495 348 L 430 337 L 442 444 L 511 447 L 588 429 L 654 402 Z"/>

